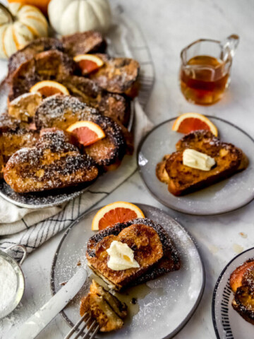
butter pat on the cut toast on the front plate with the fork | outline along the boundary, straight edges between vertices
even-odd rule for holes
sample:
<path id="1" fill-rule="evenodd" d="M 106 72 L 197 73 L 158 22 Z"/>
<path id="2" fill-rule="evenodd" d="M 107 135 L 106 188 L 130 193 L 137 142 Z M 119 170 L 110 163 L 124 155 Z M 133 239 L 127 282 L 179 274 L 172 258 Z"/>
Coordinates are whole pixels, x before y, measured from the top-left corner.
<path id="1" fill-rule="evenodd" d="M 128 268 L 140 267 L 134 259 L 133 250 L 123 242 L 117 242 L 116 240 L 111 242 L 107 253 L 109 254 L 107 266 L 111 270 L 127 270 Z"/>

